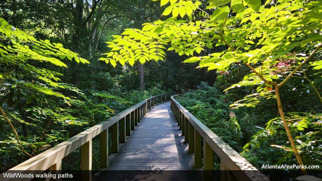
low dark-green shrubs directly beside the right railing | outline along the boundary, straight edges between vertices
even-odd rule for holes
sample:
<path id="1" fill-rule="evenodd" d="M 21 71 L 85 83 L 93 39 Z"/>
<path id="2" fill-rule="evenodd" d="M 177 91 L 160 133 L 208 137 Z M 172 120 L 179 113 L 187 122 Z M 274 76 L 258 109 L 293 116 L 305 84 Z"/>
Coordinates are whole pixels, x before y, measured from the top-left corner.
<path id="1" fill-rule="evenodd" d="M 204 87 L 207 87 L 207 90 L 202 90 Z M 232 111 L 229 108 L 230 99 L 229 94 L 224 95 L 217 88 L 210 87 L 205 82 L 201 83 L 200 89 L 189 91 L 176 98 L 197 119 L 241 153 L 255 167 L 261 168 L 262 164 L 277 163 L 283 153 L 278 148 L 270 147 L 267 142 L 262 143 L 264 147 L 261 149 L 242 152 L 243 146 L 258 131 L 255 126 L 263 124 L 264 121 L 262 115 L 253 113 L 254 110 L 250 108 Z M 212 103 L 213 101 L 216 103 Z M 271 155 L 271 157 L 266 155 Z"/>

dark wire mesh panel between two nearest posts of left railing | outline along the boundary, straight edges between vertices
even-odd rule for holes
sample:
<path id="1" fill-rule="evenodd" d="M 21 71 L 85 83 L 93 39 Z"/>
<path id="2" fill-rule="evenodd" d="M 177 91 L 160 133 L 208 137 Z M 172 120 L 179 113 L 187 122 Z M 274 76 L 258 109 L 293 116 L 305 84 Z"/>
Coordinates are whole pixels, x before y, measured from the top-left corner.
<path id="1" fill-rule="evenodd" d="M 71 154 L 62 159 L 62 170 L 81 169 L 81 148 L 76 149 Z"/>

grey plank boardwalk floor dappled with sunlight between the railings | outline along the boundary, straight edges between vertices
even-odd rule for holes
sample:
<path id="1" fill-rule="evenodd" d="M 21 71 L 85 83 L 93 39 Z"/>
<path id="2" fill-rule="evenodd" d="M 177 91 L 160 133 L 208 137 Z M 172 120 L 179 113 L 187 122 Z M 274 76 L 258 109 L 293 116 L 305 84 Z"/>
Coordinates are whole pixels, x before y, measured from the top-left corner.
<path id="1" fill-rule="evenodd" d="M 194 170 L 184 139 L 170 102 L 156 105 L 109 157 L 107 170 Z"/>

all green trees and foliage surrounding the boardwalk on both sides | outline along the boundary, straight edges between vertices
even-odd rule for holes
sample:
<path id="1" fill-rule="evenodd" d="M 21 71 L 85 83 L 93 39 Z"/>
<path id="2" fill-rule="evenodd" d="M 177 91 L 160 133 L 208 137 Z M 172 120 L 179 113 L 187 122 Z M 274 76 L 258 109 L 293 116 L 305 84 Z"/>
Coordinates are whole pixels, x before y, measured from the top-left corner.
<path id="1" fill-rule="evenodd" d="M 182 90 L 251 164 L 322 166 L 321 14 L 320 0 L 3 0 L 0 170 Z"/>

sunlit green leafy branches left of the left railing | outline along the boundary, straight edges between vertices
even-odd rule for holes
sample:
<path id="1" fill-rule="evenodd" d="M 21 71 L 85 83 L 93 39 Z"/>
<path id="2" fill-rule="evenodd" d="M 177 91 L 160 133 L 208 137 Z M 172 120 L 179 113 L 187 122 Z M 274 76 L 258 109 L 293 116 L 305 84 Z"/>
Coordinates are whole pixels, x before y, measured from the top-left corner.
<path id="1" fill-rule="evenodd" d="M 66 131 L 68 127 L 92 125 L 95 124 L 92 121 L 94 117 L 103 115 L 108 118 L 113 114 L 106 104 L 99 104 L 99 100 L 92 101 L 95 97 L 117 97 L 107 92 L 93 92 L 93 98 L 89 99 L 81 90 L 62 83 L 62 73 L 41 68 L 44 63 L 66 67 L 63 59 L 74 59 L 84 64 L 89 63 L 87 60 L 63 48 L 60 43 L 36 40 L 2 18 L 0 23 L 0 66 L 3 68 L 0 73 L 0 106 L 4 110 L 1 124 L 13 125 L 11 128 L 2 126 L 1 134 L 12 134 L 7 134 L 1 141 L 2 145 L 5 144 L 0 149 L 1 155 L 18 153 L 32 157 L 69 138 L 73 133 Z M 76 93 L 82 100 L 62 93 L 67 91 Z M 20 125 L 22 132 L 17 132 Z"/>

